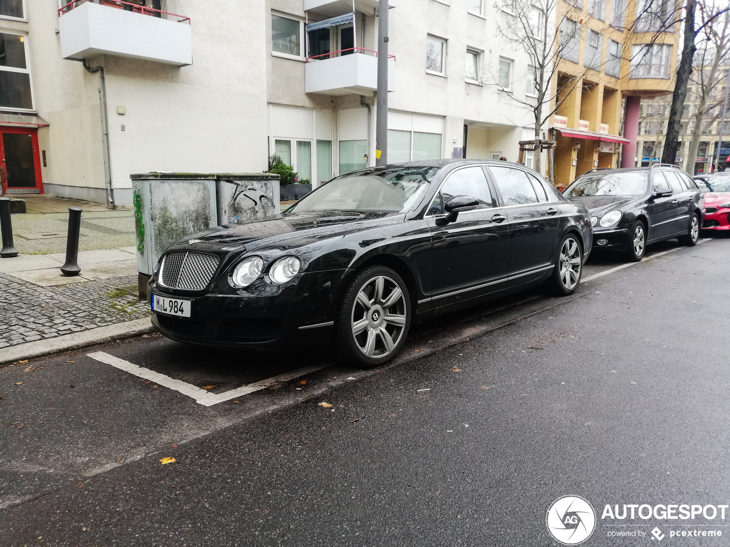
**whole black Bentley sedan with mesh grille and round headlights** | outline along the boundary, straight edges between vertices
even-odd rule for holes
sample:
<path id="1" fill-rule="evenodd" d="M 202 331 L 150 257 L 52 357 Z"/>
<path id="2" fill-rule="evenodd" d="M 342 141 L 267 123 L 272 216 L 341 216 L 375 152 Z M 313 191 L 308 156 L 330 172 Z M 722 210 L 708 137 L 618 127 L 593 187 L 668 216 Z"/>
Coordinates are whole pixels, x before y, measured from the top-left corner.
<path id="1" fill-rule="evenodd" d="M 147 294 L 173 340 L 330 347 L 369 367 L 396 355 L 415 320 L 544 282 L 571 294 L 590 249 L 588 209 L 524 166 L 400 163 L 168 247 Z"/>

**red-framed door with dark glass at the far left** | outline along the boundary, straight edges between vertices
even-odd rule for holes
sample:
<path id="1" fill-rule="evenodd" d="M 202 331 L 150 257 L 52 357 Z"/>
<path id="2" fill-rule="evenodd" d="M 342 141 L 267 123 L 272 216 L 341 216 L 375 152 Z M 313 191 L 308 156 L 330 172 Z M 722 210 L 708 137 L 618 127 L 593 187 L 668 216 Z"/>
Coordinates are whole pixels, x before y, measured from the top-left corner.
<path id="1" fill-rule="evenodd" d="M 38 131 L 0 127 L 0 174 L 4 194 L 42 194 Z"/>

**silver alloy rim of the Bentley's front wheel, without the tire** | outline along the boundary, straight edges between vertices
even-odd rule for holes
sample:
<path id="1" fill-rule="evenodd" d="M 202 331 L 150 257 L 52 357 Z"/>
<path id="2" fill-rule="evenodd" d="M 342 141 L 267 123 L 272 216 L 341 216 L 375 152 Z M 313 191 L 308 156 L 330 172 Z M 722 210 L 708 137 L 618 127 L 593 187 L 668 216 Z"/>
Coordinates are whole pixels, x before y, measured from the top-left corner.
<path id="1" fill-rule="evenodd" d="M 406 298 L 388 276 L 375 276 L 358 292 L 351 324 L 355 343 L 367 357 L 393 352 L 407 322 Z"/>

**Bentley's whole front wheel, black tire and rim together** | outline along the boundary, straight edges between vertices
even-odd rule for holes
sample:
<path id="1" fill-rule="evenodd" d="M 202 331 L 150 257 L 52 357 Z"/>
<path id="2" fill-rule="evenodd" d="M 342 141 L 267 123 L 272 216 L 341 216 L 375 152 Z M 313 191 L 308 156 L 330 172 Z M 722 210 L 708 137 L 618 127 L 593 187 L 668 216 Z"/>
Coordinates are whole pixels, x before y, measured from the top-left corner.
<path id="1" fill-rule="evenodd" d="M 353 275 L 342 292 L 332 353 L 361 368 L 384 365 L 405 343 L 410 320 L 410 297 L 401 276 L 382 265 L 367 266 Z"/>

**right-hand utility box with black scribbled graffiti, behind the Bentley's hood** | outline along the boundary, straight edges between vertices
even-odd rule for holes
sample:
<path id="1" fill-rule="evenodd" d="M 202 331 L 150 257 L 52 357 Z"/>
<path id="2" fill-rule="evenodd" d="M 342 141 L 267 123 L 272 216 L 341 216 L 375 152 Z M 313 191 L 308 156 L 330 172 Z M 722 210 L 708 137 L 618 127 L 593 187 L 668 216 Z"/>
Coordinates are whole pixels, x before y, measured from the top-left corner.
<path id="1" fill-rule="evenodd" d="M 215 181 L 218 224 L 241 224 L 279 214 L 279 175 L 222 173 Z"/>

